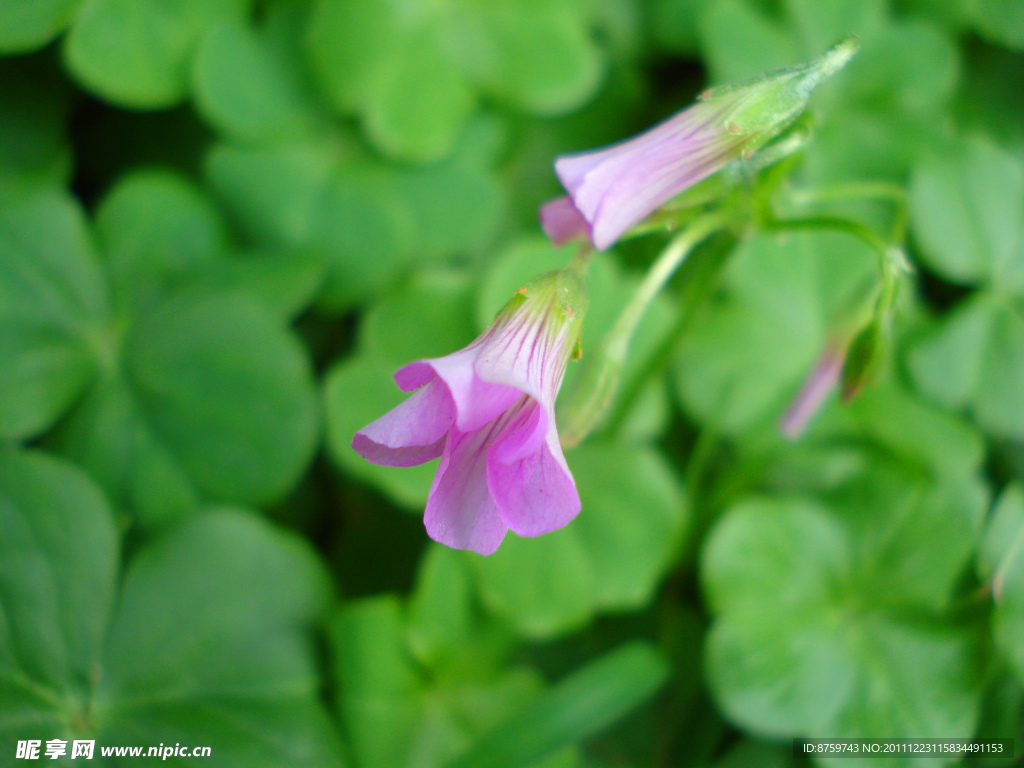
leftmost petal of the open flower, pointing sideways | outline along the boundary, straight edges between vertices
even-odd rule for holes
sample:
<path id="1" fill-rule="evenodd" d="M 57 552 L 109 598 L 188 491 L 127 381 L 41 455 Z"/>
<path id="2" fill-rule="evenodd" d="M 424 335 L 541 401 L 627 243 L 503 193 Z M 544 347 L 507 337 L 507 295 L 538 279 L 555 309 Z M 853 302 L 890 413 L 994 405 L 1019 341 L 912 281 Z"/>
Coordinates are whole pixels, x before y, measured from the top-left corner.
<path id="1" fill-rule="evenodd" d="M 352 449 L 367 461 L 412 467 L 436 459 L 455 421 L 455 406 L 436 379 L 355 433 Z"/>

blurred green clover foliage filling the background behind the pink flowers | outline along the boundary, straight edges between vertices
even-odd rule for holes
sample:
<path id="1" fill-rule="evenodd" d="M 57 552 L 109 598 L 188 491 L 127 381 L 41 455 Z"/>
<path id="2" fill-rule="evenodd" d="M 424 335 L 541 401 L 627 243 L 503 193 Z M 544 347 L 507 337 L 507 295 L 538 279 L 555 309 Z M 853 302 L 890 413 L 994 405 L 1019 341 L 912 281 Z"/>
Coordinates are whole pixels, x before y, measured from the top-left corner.
<path id="1" fill-rule="evenodd" d="M 783 439 L 876 255 L 713 239 L 567 456 L 580 518 L 428 544 L 436 464 L 351 436 L 569 258 L 536 220 L 553 158 L 850 32 L 772 204 L 908 234 L 879 382 Z M 251 768 L 1020 749 L 1020 2 L 0 0 L 0 765 L 31 738 Z M 595 257 L 584 354 L 663 242 Z"/>

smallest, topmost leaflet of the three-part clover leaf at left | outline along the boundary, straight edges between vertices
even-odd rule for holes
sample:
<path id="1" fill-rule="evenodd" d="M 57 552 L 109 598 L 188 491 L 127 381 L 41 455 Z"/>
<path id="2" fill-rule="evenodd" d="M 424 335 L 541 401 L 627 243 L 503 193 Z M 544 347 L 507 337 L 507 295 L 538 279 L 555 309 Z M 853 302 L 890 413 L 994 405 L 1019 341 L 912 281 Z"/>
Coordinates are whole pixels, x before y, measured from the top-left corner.
<path id="1" fill-rule="evenodd" d="M 170 171 L 121 178 L 99 204 L 96 234 L 118 298 L 135 312 L 211 270 L 227 247 L 213 203 Z"/>

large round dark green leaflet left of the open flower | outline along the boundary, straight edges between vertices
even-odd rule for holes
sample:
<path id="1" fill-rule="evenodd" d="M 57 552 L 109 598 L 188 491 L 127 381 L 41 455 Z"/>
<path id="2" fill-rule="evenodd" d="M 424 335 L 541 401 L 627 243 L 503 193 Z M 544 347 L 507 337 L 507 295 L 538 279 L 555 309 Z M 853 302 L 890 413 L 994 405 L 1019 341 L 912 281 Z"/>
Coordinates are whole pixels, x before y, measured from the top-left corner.
<path id="1" fill-rule="evenodd" d="M 256 300 L 172 299 L 132 329 L 125 358 L 146 422 L 211 498 L 274 501 L 312 459 L 305 350 Z"/>

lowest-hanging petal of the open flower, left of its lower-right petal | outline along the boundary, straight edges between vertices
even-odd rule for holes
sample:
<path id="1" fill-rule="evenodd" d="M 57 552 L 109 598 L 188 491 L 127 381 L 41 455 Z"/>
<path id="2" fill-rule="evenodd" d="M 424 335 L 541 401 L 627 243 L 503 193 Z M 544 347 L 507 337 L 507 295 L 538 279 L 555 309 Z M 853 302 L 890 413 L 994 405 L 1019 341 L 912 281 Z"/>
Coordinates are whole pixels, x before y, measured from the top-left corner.
<path id="1" fill-rule="evenodd" d="M 489 555 L 505 538 L 508 526 L 490 498 L 486 471 L 486 447 L 499 421 L 469 433 L 449 432 L 423 515 L 435 542 Z"/>

